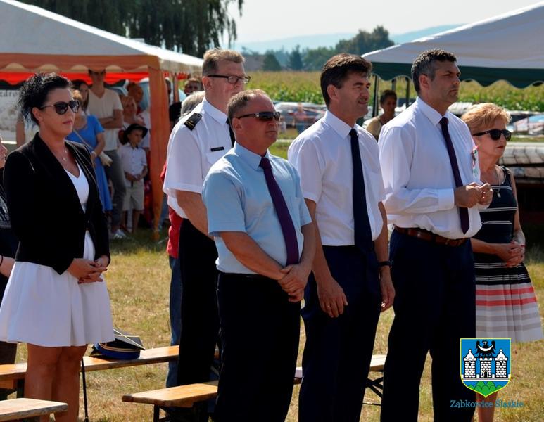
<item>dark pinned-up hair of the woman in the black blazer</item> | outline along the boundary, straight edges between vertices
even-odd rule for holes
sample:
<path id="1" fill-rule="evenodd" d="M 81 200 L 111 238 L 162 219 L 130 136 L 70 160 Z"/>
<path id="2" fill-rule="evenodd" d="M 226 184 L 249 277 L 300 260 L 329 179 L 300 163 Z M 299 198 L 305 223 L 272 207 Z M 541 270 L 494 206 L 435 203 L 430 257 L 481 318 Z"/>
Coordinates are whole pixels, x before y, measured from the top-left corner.
<path id="1" fill-rule="evenodd" d="M 19 108 L 25 119 L 30 118 L 36 124 L 38 121 L 32 113 L 32 108 L 41 108 L 49 96 L 49 92 L 57 88 L 70 88 L 72 82 L 56 73 L 36 73 L 29 77 L 19 89 Z"/>

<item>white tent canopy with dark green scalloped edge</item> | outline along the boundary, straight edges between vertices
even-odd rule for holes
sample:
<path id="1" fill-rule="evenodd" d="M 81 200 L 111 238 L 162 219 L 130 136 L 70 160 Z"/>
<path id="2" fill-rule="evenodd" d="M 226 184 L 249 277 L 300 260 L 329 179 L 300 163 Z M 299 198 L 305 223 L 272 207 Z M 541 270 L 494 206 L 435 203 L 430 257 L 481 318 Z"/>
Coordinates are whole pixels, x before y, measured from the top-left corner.
<path id="1" fill-rule="evenodd" d="M 515 87 L 544 81 L 544 2 L 431 37 L 363 55 L 381 79 L 411 77 L 419 53 L 444 49 L 457 56 L 461 79 L 486 86 L 504 79 Z"/>

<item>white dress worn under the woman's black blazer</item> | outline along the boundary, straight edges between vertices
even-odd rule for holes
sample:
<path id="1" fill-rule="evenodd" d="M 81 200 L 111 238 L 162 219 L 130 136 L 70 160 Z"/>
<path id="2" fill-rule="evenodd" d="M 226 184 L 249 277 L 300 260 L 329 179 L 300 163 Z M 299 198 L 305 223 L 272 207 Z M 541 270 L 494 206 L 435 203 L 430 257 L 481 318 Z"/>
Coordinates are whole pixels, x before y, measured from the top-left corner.
<path id="1" fill-rule="evenodd" d="M 67 173 L 85 210 L 89 184 L 77 167 L 79 177 Z M 94 260 L 89 231 L 83 257 Z M 44 347 L 114 340 L 106 282 L 78 284 L 68 271 L 59 275 L 45 265 L 15 262 L 0 307 L 0 340 Z"/>

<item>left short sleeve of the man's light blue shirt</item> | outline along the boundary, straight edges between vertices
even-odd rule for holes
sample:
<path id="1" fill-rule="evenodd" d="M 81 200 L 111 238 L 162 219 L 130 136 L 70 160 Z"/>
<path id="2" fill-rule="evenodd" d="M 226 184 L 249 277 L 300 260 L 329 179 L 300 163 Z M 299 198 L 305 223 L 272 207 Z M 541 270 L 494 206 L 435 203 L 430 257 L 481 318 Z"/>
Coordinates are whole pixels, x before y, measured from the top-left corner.
<path id="1" fill-rule="evenodd" d="M 208 212 L 210 235 L 218 236 L 222 231 L 246 232 L 240 191 L 227 174 L 210 172 L 204 181 L 202 199 Z"/>

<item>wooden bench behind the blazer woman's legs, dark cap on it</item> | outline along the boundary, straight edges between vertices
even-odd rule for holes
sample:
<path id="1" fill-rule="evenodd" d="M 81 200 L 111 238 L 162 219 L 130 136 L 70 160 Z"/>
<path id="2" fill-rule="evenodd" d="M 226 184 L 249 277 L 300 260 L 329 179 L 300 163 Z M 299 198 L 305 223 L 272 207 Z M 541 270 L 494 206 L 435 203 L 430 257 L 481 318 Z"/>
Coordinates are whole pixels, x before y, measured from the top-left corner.
<path id="1" fill-rule="evenodd" d="M 142 350 L 138 359 L 120 360 L 85 356 L 83 362 L 85 365 L 85 372 L 103 371 L 105 369 L 125 368 L 127 366 L 170 362 L 177 359 L 178 351 L 179 346 L 156 347 L 154 349 Z M 26 362 L 0 365 L 0 388 L 7 388 L 9 390 L 16 389 L 18 397 L 23 397 L 23 385 L 26 372 Z"/>

